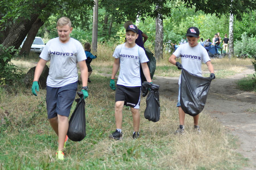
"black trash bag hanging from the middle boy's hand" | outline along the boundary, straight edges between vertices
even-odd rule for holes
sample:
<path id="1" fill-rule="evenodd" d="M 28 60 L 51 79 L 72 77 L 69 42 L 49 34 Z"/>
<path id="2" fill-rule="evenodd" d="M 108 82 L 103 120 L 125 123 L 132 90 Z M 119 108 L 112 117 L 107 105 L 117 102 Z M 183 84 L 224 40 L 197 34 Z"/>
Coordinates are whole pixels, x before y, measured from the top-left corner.
<path id="1" fill-rule="evenodd" d="M 148 88 L 150 88 L 148 94 Z M 144 82 L 142 85 L 142 96 L 146 98 L 146 109 L 144 117 L 152 122 L 157 122 L 160 119 L 160 102 L 159 102 L 159 85 Z"/>

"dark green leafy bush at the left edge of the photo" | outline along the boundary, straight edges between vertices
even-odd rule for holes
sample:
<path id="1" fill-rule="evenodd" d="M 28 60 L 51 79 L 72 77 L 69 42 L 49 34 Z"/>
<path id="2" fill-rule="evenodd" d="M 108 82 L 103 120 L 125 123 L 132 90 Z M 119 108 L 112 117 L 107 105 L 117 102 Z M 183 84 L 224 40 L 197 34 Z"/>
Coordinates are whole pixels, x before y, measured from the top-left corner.
<path id="1" fill-rule="evenodd" d="M 0 87 L 5 86 L 6 84 L 13 83 L 16 78 L 19 78 L 22 74 L 15 65 L 13 65 L 11 61 L 11 53 L 13 51 L 17 51 L 14 47 L 4 47 L 0 44 Z"/>

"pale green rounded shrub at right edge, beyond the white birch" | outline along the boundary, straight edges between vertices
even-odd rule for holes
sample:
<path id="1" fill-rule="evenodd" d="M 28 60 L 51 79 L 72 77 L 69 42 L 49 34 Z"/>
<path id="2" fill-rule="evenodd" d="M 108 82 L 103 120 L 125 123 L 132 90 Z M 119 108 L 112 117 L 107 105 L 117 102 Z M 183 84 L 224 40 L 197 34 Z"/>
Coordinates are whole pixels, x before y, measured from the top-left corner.
<path id="1" fill-rule="evenodd" d="M 255 57 L 256 55 L 256 37 L 248 37 L 247 33 L 244 32 L 241 35 L 241 41 L 234 42 L 234 53 L 240 57 L 246 54 L 249 58 Z"/>

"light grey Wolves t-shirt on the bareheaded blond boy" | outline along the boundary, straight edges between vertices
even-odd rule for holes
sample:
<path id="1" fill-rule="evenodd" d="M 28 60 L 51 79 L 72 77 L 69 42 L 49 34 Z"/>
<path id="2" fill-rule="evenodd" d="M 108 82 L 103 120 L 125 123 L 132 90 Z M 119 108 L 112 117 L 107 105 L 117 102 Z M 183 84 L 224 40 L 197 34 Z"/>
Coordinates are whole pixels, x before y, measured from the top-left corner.
<path id="1" fill-rule="evenodd" d="M 82 44 L 70 38 L 69 42 L 61 43 L 59 37 L 49 40 L 40 57 L 50 60 L 49 75 L 46 85 L 63 87 L 78 80 L 77 62 L 86 59 Z"/>

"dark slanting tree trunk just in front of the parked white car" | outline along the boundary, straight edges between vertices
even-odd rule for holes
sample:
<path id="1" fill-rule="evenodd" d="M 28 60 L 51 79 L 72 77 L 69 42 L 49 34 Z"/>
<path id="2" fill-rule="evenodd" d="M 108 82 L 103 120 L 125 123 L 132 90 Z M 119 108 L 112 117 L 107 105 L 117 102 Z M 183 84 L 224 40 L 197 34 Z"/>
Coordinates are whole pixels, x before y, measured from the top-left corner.
<path id="1" fill-rule="evenodd" d="M 25 40 L 25 42 L 22 45 L 22 48 L 20 50 L 20 55 L 28 55 L 30 52 L 31 45 L 36 37 L 36 34 L 38 32 L 38 29 L 44 24 L 44 22 L 41 19 L 38 19 L 33 23 L 31 29 L 28 32 L 28 36 Z"/>

